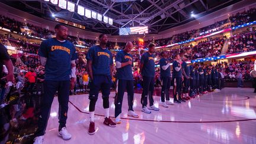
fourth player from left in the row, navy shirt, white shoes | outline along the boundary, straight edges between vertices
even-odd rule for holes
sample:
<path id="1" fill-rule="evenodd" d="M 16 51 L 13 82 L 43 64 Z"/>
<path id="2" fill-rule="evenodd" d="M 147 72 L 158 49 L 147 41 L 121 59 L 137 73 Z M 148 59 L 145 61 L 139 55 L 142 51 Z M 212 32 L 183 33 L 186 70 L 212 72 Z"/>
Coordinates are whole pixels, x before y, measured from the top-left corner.
<path id="1" fill-rule="evenodd" d="M 150 114 L 150 110 L 159 111 L 159 108 L 153 105 L 153 90 L 155 84 L 155 60 L 153 51 L 155 49 L 154 44 L 149 44 L 148 52 L 144 53 L 140 59 L 140 72 L 143 79 L 143 92 L 140 99 L 142 103 L 142 111 Z M 147 108 L 149 98 L 149 108 Z M 149 110 L 150 109 L 150 110 Z"/>

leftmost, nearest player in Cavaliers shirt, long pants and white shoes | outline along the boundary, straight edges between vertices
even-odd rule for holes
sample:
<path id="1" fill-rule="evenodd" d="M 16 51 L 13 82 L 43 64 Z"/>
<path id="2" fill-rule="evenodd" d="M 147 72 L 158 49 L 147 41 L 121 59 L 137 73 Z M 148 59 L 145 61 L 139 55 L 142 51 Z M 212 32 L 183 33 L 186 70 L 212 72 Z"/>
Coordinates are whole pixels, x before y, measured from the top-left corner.
<path id="1" fill-rule="evenodd" d="M 72 74 L 75 73 L 75 46 L 67 39 L 68 28 L 63 24 L 55 26 L 56 38 L 44 40 L 39 49 L 41 65 L 45 66 L 44 94 L 41 100 L 38 129 L 35 133 L 34 143 L 42 143 L 50 115 L 50 108 L 56 91 L 59 101 L 59 133 L 64 140 L 71 139 L 71 134 L 66 130 L 68 118 L 68 101 L 71 66 Z"/>

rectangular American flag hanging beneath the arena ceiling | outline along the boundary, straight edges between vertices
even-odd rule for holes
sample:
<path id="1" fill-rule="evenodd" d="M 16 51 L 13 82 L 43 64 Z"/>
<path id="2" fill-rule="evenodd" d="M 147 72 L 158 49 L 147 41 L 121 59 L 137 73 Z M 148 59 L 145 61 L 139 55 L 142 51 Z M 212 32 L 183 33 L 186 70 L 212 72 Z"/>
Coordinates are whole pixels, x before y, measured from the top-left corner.
<path id="1" fill-rule="evenodd" d="M 148 33 L 148 27 L 124 27 L 119 28 L 120 35 Z"/>

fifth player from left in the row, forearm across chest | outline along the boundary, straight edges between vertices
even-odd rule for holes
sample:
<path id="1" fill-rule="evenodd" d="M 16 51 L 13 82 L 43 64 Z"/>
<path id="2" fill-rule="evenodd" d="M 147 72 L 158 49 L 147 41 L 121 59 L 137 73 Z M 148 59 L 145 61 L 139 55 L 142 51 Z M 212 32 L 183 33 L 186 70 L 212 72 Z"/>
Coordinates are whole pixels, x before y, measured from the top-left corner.
<path id="1" fill-rule="evenodd" d="M 163 107 L 168 107 L 171 105 L 171 101 L 169 101 L 169 88 L 171 87 L 171 63 L 168 62 L 167 52 L 161 52 L 162 59 L 159 61 L 160 65 L 160 75 L 162 81 L 162 89 L 161 89 L 161 102 Z M 167 101 L 165 101 L 165 98 Z M 168 104 L 168 105 L 167 105 Z"/>

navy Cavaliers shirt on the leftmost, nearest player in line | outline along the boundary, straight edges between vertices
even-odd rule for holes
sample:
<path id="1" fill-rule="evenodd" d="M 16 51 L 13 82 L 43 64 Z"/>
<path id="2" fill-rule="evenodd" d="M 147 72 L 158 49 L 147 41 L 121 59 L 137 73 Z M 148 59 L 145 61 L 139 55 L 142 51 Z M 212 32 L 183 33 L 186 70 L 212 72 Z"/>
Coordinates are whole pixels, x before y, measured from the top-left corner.
<path id="1" fill-rule="evenodd" d="M 75 46 L 70 41 L 60 42 L 55 38 L 44 40 L 39 56 L 47 58 L 45 80 L 70 80 L 71 60 L 76 59 Z"/>

